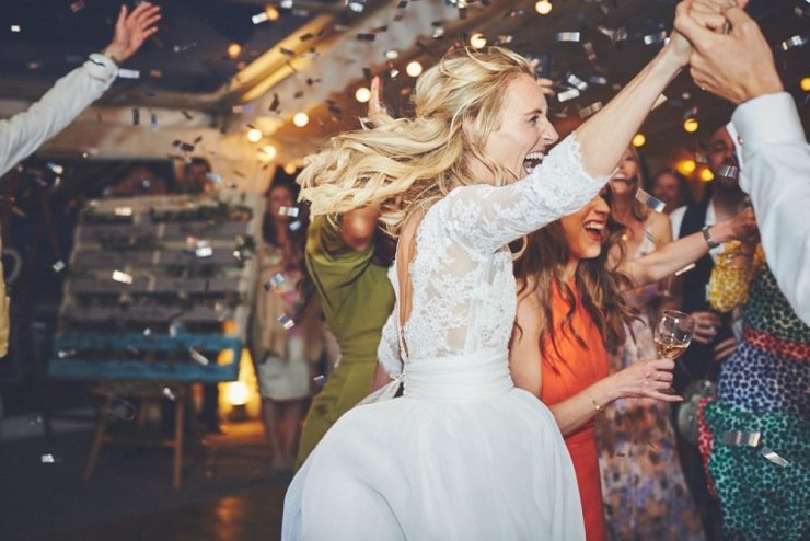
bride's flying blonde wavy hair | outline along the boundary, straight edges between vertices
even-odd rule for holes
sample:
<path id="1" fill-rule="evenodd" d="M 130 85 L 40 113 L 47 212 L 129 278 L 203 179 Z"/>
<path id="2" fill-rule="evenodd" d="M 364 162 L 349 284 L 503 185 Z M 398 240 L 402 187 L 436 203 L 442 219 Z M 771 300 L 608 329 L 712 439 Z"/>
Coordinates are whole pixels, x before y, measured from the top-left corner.
<path id="1" fill-rule="evenodd" d="M 479 184 L 467 157 L 481 160 L 495 184 L 517 180 L 484 153 L 498 128 L 504 89 L 520 74 L 535 77 L 522 56 L 500 47 L 455 49 L 425 71 L 412 95 L 414 118 L 374 114 L 361 129 L 332 138 L 306 158 L 298 176 L 301 199 L 313 215 L 333 215 L 373 205 L 380 221 L 398 235 L 406 217 L 458 185 Z M 463 128 L 463 129 L 462 129 Z"/>

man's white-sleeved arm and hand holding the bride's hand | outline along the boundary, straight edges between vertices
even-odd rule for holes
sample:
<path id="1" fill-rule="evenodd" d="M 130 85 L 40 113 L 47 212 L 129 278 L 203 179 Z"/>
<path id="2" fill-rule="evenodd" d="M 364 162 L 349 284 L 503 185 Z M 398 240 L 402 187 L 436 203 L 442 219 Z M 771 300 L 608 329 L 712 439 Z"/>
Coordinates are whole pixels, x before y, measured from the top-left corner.
<path id="1" fill-rule="evenodd" d="M 731 25 L 713 33 L 693 19 L 695 5 L 715 7 Z M 810 147 L 796 104 L 776 71 L 756 22 L 739 7 L 718 0 L 678 7 L 675 27 L 694 45 L 695 83 L 738 104 L 731 127 L 742 141 L 740 186 L 753 202 L 762 245 L 779 289 L 810 324 Z M 731 131 L 731 130 L 730 130 Z"/>

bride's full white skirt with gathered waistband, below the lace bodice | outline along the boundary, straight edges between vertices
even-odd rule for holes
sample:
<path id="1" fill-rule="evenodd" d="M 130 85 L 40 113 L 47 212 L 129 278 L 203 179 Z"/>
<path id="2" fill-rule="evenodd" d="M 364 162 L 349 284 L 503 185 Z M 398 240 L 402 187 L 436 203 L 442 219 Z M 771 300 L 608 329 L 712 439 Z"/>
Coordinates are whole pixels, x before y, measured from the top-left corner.
<path id="1" fill-rule="evenodd" d="M 585 539 L 559 428 L 506 358 L 435 362 L 333 426 L 287 492 L 282 539 Z"/>

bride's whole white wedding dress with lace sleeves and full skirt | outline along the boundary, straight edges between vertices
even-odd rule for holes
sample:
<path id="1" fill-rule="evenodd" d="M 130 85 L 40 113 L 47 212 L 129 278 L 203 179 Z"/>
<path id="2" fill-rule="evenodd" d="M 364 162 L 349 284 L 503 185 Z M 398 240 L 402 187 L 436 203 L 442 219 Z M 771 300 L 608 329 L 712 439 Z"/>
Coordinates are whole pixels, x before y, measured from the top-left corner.
<path id="1" fill-rule="evenodd" d="M 401 339 L 397 302 L 380 346 L 390 372 L 403 364 L 404 394 L 355 407 L 326 434 L 287 492 L 282 539 L 585 539 L 559 428 L 509 375 L 506 244 L 579 209 L 604 181 L 585 173 L 569 137 L 526 179 L 459 187 L 427 211 L 410 315 Z"/>

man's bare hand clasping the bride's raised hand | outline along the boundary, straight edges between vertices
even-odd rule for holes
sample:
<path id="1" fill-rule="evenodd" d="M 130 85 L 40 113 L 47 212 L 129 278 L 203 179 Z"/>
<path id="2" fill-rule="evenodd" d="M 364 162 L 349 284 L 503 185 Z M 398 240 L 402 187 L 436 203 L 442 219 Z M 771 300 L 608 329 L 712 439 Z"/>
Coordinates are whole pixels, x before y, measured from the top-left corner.
<path id="1" fill-rule="evenodd" d="M 706 14 L 707 7 L 720 3 L 720 0 L 685 0 L 675 11 L 675 28 L 694 47 L 690 72 L 695 84 L 734 104 L 782 92 L 784 87 L 771 48 L 754 20 L 741 8 L 737 4 L 722 8 L 722 15 L 731 25 L 729 34 L 713 32 L 717 26 L 714 19 L 706 24 L 698 22 L 698 13 Z M 693 5 L 704 11 L 693 14 Z"/>

